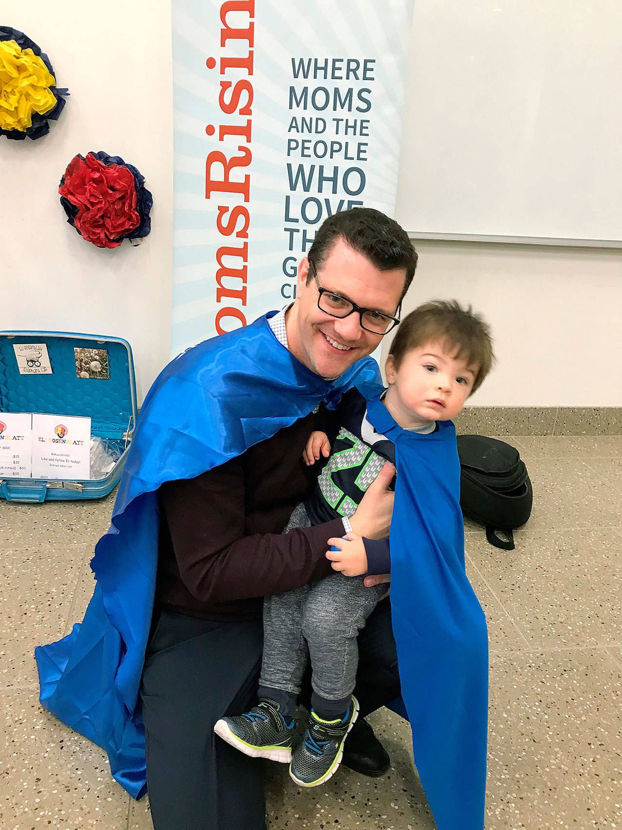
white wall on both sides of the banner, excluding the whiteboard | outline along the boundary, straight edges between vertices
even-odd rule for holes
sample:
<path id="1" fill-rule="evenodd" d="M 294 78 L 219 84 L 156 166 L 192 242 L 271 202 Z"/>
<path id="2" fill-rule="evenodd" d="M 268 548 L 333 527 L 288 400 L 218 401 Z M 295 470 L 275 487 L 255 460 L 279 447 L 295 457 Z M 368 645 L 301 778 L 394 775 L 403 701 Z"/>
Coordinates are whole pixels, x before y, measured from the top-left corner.
<path id="1" fill-rule="evenodd" d="M 0 329 L 119 335 L 134 348 L 138 398 L 168 361 L 172 100 L 167 0 L 31 0 L 2 22 L 46 51 L 70 88 L 43 139 L 0 138 Z M 57 194 L 76 154 L 134 164 L 153 193 L 140 247 L 100 250 L 66 223 Z M 622 252 L 417 242 L 405 310 L 456 297 L 493 326 L 498 367 L 472 399 L 488 406 L 621 406 Z"/>

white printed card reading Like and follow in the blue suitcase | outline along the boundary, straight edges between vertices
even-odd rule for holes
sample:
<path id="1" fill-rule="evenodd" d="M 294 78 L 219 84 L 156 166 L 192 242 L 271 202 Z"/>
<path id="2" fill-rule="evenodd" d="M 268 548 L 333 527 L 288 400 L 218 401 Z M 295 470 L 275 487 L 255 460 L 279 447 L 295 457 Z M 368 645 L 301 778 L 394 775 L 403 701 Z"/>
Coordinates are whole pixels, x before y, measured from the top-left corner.
<path id="1" fill-rule="evenodd" d="M 32 478 L 90 478 L 90 417 L 32 416 Z"/>

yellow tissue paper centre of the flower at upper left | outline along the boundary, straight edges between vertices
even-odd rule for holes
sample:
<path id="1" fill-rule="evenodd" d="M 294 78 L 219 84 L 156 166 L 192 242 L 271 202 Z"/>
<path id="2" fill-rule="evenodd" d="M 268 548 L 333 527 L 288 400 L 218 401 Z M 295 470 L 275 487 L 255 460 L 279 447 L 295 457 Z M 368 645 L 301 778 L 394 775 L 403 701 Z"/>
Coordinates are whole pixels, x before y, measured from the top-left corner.
<path id="1" fill-rule="evenodd" d="M 33 113 L 52 110 L 56 96 L 50 86 L 56 86 L 56 79 L 32 49 L 0 41 L 0 128 L 25 131 Z"/>

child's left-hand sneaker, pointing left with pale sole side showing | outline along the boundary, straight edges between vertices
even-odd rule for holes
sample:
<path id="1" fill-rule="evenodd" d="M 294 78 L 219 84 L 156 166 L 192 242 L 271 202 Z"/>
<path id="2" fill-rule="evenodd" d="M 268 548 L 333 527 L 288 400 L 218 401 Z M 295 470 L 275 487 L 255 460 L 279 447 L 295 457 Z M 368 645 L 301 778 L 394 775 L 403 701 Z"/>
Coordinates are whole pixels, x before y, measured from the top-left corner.
<path id="1" fill-rule="evenodd" d="M 251 758 L 267 758 L 279 764 L 289 764 L 292 758 L 294 721 L 288 725 L 273 701 L 260 701 L 244 715 L 221 718 L 214 731 Z"/>

